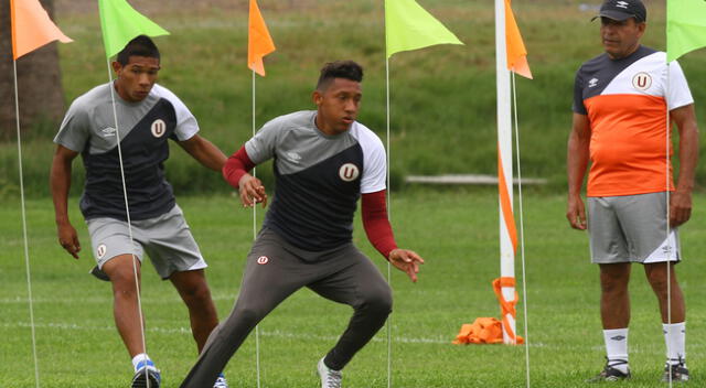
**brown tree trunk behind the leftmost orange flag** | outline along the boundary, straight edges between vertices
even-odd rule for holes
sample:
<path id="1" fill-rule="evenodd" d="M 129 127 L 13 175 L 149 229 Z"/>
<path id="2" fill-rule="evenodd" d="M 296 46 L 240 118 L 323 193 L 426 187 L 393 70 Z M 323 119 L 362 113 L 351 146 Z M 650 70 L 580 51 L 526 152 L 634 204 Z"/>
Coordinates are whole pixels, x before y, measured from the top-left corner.
<path id="1" fill-rule="evenodd" d="M 41 0 L 54 13 L 54 0 Z M 10 2 L 0 0 L 0 139 L 15 137 L 14 74 L 12 71 Z M 23 133 L 40 126 L 53 128 L 64 112 L 64 90 L 56 43 L 50 43 L 17 61 L 20 125 Z M 23 134 L 24 136 L 24 134 Z"/>

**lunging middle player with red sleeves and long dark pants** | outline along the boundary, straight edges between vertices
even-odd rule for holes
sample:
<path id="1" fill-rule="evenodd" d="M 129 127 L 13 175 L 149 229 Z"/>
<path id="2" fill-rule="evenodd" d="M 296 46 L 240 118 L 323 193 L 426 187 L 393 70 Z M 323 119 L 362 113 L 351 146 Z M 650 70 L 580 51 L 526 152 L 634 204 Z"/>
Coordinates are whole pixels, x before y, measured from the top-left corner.
<path id="1" fill-rule="evenodd" d="M 275 200 L 247 256 L 235 308 L 211 334 L 182 388 L 210 386 L 255 325 L 302 287 L 354 309 L 349 327 L 318 364 L 321 387 L 341 387 L 341 369 L 392 310 L 387 282 L 351 241 L 359 197 L 373 246 L 417 281 L 424 260 L 397 248 L 387 219 L 385 150 L 355 120 L 362 80 L 354 62 L 327 64 L 313 91 L 317 110 L 269 121 L 228 159 L 223 175 L 239 190 L 243 205 L 265 206 L 265 188 L 247 171 L 274 158 Z"/>

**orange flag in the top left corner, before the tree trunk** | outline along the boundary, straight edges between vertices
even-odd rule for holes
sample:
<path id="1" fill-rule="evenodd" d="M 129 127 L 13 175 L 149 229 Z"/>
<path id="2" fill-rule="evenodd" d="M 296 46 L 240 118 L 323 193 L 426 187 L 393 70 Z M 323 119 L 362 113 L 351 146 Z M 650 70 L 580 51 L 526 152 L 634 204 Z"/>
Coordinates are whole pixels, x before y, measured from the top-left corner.
<path id="1" fill-rule="evenodd" d="M 73 42 L 52 22 L 39 0 L 10 0 L 10 15 L 14 60 L 54 41 Z"/>

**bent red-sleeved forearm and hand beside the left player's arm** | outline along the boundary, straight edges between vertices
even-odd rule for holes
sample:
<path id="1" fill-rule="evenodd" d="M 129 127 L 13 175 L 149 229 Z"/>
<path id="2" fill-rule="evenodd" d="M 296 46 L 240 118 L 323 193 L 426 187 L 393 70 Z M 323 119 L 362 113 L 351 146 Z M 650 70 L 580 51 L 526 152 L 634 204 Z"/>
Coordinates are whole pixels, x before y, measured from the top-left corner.
<path id="1" fill-rule="evenodd" d="M 238 190 L 243 207 L 253 207 L 255 204 L 261 203 L 264 208 L 267 206 L 267 193 L 265 193 L 263 182 L 248 173 L 254 168 L 255 163 L 247 155 L 245 146 L 243 146 L 223 165 L 223 179 Z"/>

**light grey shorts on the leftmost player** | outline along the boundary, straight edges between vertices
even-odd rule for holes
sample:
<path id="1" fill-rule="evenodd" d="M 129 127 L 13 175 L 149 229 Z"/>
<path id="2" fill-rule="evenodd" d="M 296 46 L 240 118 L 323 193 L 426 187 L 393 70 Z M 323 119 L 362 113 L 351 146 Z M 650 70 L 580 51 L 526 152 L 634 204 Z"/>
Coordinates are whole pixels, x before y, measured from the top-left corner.
<path id="1" fill-rule="evenodd" d="M 135 255 L 142 262 L 142 256 L 147 252 L 162 279 L 169 279 L 173 272 L 207 267 L 179 205 L 161 216 L 133 220 L 132 245 L 124 220 L 90 218 L 86 224 L 98 263 L 98 271 L 94 269 L 92 273 L 99 279 L 107 280 L 100 271 L 103 265 L 120 255 Z"/>

